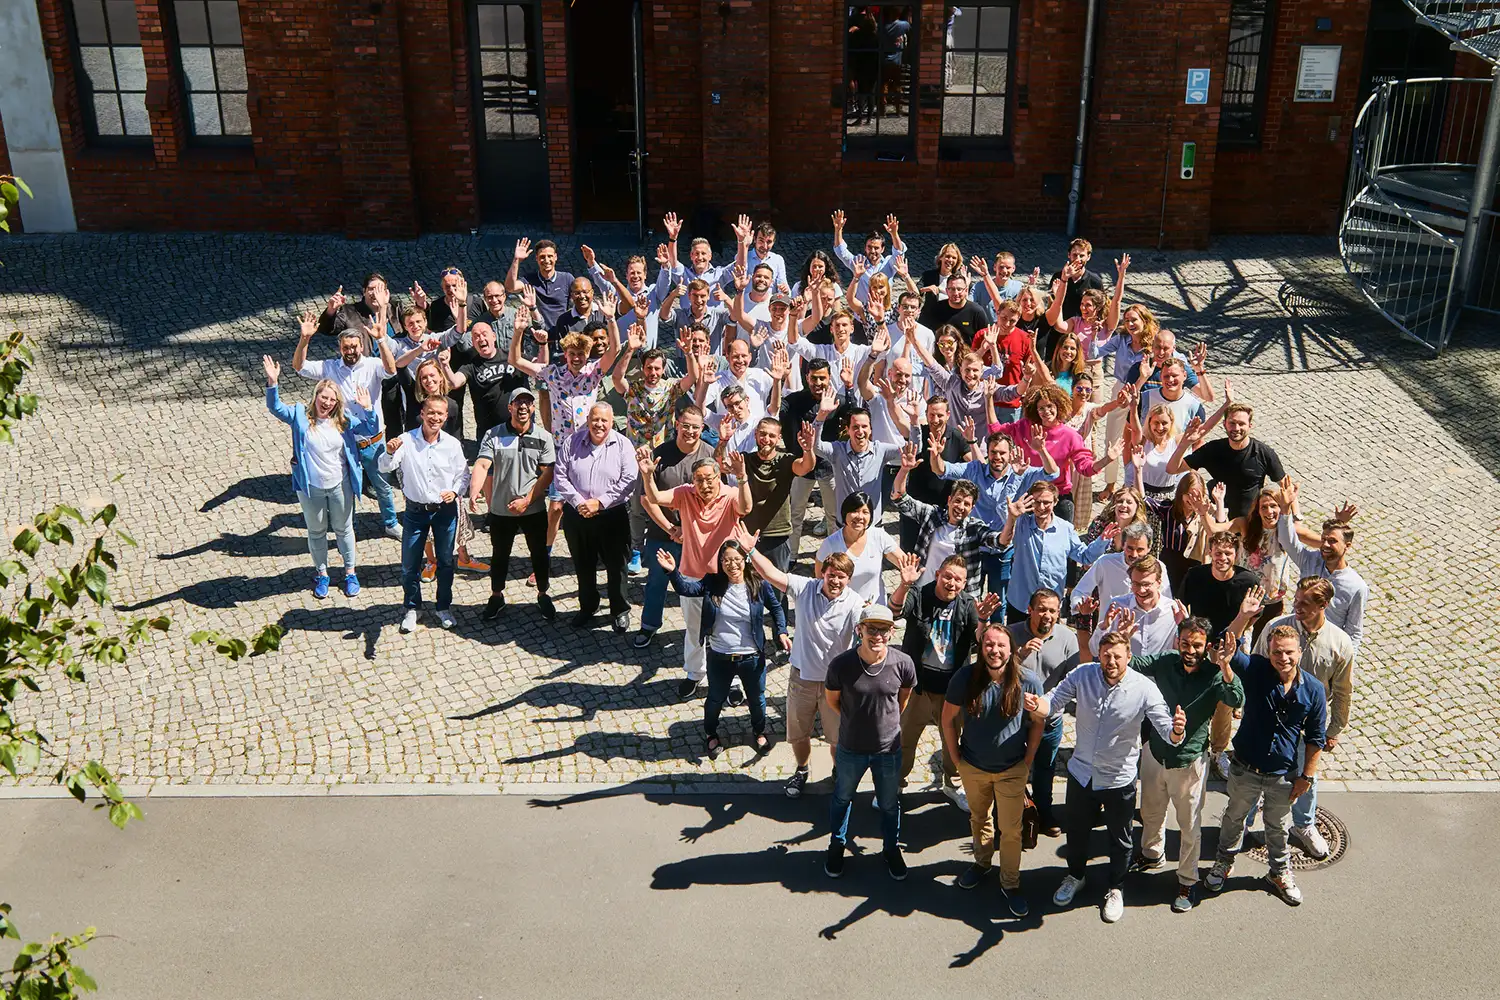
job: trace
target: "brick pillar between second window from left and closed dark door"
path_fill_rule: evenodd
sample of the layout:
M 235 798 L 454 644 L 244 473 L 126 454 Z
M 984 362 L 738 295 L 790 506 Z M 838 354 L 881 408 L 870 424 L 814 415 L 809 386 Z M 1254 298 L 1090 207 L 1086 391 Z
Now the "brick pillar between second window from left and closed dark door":
M 339 109 L 344 232 L 417 235 L 417 196 L 402 82 L 400 4 L 338 0 L 339 51 L 333 97 Z

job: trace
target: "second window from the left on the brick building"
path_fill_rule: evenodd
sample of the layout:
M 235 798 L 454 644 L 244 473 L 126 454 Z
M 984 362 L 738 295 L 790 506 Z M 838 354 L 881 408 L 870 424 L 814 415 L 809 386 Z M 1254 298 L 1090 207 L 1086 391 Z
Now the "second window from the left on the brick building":
M 176 0 L 172 15 L 194 139 L 210 144 L 249 141 L 249 78 L 240 4 L 236 0 Z

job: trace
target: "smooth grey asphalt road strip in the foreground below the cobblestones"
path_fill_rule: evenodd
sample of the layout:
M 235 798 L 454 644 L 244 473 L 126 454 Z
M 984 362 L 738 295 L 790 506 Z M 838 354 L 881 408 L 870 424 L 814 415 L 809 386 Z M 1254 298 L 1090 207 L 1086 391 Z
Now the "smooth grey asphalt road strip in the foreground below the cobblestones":
M 878 852 L 862 798 L 855 834 Z M 828 880 L 824 798 L 171 801 L 124 834 L 8 802 L 0 886 L 24 931 L 114 936 L 86 967 L 116 1000 L 1492 997 L 1500 796 L 1324 805 L 1352 847 L 1302 877 L 1302 907 L 1245 862 L 1185 916 L 1172 874 L 1131 882 L 1113 927 L 1092 883 L 1088 906 L 1028 921 L 948 885 L 966 825 L 940 802 L 906 817 L 908 882 L 878 855 Z M 1060 877 L 1056 844 L 1026 855 L 1034 900 Z

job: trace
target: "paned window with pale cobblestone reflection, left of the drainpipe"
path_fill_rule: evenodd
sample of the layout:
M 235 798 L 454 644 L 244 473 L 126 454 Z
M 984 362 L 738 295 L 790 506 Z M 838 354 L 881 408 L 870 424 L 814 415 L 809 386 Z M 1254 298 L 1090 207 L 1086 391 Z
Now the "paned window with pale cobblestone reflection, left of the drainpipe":
M 1011 3 L 948 7 L 939 144 L 945 159 L 1008 145 L 1014 25 Z

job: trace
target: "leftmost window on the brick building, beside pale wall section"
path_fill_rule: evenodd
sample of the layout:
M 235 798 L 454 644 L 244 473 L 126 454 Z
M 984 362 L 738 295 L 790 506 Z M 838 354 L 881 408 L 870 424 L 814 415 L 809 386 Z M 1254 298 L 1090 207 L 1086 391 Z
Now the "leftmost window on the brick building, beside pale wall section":
M 72 0 L 78 55 L 78 97 L 88 138 L 99 142 L 150 142 L 146 112 L 146 57 L 135 0 Z

